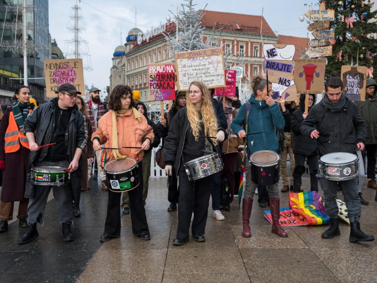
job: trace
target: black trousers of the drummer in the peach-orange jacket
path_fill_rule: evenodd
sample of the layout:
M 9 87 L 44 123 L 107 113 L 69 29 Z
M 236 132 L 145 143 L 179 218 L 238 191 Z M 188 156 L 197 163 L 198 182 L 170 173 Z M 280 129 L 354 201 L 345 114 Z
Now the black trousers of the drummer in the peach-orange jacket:
M 139 162 L 138 165 L 139 185 L 135 189 L 128 191 L 128 196 L 130 198 L 132 233 L 135 235 L 143 231 L 149 231 L 143 205 L 143 166 L 141 165 L 141 162 Z M 111 188 L 109 184 L 107 184 L 107 188 Z M 112 192 L 109 189 L 105 233 L 112 237 L 120 237 L 121 195 L 121 193 Z

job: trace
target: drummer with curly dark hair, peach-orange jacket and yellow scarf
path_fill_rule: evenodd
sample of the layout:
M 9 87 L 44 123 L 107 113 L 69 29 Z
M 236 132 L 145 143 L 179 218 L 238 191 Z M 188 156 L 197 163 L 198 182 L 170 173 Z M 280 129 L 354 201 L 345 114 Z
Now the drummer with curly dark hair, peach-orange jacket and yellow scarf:
M 92 135 L 93 149 L 100 151 L 101 145 L 105 144 L 101 163 L 110 160 L 121 160 L 127 157 L 138 162 L 139 185 L 128 191 L 131 210 L 132 233 L 141 240 L 150 240 L 147 217 L 143 205 L 143 156 L 144 150 L 149 149 L 154 134 L 147 119 L 135 108 L 135 100 L 132 97 L 132 90 L 129 86 L 117 85 L 110 95 L 109 109 L 98 121 L 98 128 Z M 122 148 L 132 146 L 140 148 Z M 122 149 L 115 149 L 122 148 Z M 103 165 L 104 167 L 104 165 Z M 108 186 L 112 184 L 107 184 Z M 112 188 L 111 186 L 109 188 Z M 101 241 L 109 241 L 112 238 L 120 237 L 121 222 L 121 193 L 113 192 L 110 189 L 109 200 L 107 201 L 107 215 L 104 233 Z

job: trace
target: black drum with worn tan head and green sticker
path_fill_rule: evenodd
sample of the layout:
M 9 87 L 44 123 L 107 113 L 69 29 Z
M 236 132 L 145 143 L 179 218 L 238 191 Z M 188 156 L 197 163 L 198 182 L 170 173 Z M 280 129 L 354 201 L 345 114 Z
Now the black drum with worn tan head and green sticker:
M 120 160 L 111 160 L 103 168 L 109 190 L 112 192 L 127 192 L 139 185 L 138 163 L 127 157 Z

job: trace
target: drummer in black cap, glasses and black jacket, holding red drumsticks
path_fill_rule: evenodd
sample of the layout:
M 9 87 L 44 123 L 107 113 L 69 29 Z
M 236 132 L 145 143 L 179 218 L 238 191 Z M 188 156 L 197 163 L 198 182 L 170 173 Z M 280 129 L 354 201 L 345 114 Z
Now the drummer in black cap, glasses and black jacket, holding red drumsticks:
M 63 83 L 59 86 L 58 97 L 51 102 L 38 106 L 25 120 L 24 129 L 29 141 L 29 172 L 26 179 L 25 198 L 30 198 L 28 205 L 28 228 L 18 239 L 19 244 L 29 243 L 39 236 L 37 223 L 43 225 L 43 214 L 49 192 L 54 192 L 58 207 L 58 217 L 63 229 L 63 240 L 73 241 L 71 224 L 72 188 L 81 186 L 83 152 L 88 132 L 85 118 L 78 110 L 76 99 L 81 94 L 75 86 Z M 39 146 L 55 145 L 39 148 Z M 38 166 L 58 166 L 68 168 L 70 184 L 41 186 L 31 183 L 31 170 Z M 72 186 L 72 188 L 71 188 Z

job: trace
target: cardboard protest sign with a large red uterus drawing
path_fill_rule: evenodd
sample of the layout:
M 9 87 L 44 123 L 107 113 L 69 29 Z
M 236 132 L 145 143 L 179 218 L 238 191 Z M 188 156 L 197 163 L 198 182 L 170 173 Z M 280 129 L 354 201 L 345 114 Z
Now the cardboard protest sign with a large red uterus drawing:
M 326 59 L 296 59 L 294 68 L 297 93 L 322 94 Z

